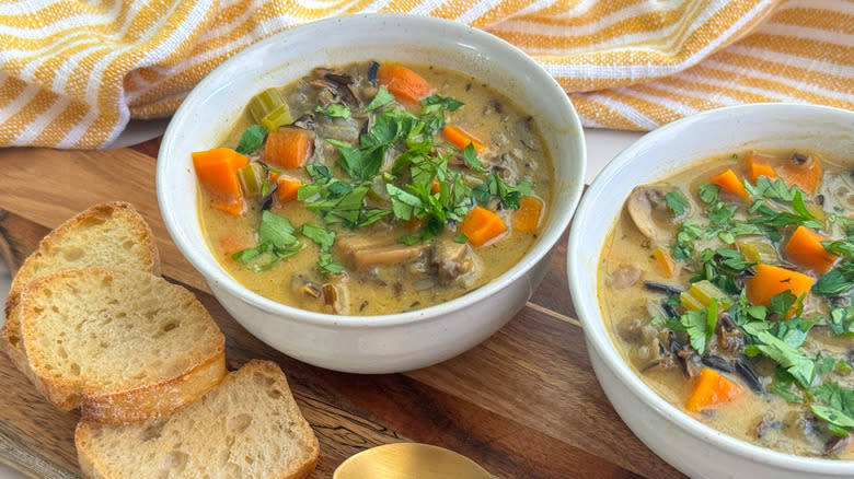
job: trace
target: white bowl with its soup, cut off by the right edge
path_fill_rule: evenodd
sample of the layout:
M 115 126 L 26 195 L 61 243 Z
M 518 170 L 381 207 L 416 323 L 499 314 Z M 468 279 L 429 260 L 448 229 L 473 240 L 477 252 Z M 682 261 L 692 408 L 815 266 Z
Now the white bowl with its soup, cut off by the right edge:
M 690 117 L 621 153 L 582 201 L 568 266 L 597 376 L 692 477 L 854 470 L 852 117 Z

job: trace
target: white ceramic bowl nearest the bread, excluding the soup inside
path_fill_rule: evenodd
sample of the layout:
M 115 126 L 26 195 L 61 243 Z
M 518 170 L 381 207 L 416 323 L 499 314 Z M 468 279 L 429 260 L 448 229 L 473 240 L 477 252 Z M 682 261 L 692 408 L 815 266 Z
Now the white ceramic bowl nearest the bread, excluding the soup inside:
M 493 282 L 437 306 L 355 317 L 266 300 L 236 283 L 206 247 L 196 214 L 191 152 L 217 145 L 250 98 L 318 66 L 369 59 L 432 63 L 489 83 L 534 117 L 555 164 L 552 214 L 524 258 Z M 509 320 L 542 280 L 547 256 L 578 202 L 585 147 L 566 93 L 530 57 L 461 24 L 422 16 L 342 16 L 295 27 L 223 62 L 187 96 L 160 147 L 157 188 L 172 238 L 210 290 L 250 332 L 290 357 L 331 370 L 391 373 L 427 366 L 483 341 Z

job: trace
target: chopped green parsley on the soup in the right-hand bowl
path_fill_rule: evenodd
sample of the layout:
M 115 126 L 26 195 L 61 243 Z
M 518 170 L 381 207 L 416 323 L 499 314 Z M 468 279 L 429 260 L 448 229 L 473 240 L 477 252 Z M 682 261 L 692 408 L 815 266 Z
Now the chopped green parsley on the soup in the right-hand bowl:
M 765 389 L 788 402 L 805 404 L 831 432 L 850 434 L 854 431 L 854 389 L 847 387 L 847 378 L 836 382 L 852 374 L 850 359 L 834 358 L 826 351 L 816 353 L 808 338 L 817 325 L 828 331 L 824 334 L 854 336 L 854 220 L 842 215 L 845 211 L 841 208 L 830 213 L 818 211 L 815 205 L 808 206 L 807 194 L 778 178 L 761 176 L 754 185 L 745 184 L 752 197 L 749 205 L 725 201 L 720 187 L 711 183 L 697 186 L 695 198 L 704 211 L 676 224 L 671 245 L 673 258 L 693 270 L 692 287 L 681 296 L 662 300 L 662 307 L 670 307 L 671 317 L 654 315 L 651 324 L 667 327 L 678 343 L 690 344 L 699 355 L 726 354 L 720 349 L 725 348 L 724 342 L 716 342 L 728 339 L 717 337 L 723 331 L 718 313 L 726 308 L 731 323 L 725 327 L 731 328 L 734 323 L 739 329 L 738 349 L 731 352 L 762 358 L 775 365 L 771 377 L 765 378 Z M 692 201 L 679 190 L 671 189 L 665 200 L 676 219 L 690 212 Z M 754 261 L 794 261 L 784 250 L 784 238 L 799 225 L 845 233 L 843 238 L 822 242 L 828 253 L 840 257 L 832 269 L 818 277 L 810 291 L 826 296 L 823 316 L 811 306 L 805 307 L 808 293 L 798 297 L 792 290 L 784 290 L 763 305 L 747 300 L 746 284 L 754 273 Z M 760 240 L 737 242 L 738 236 Z M 738 248 L 727 247 L 732 244 Z M 719 295 L 712 291 L 715 289 Z M 812 297 L 809 304 L 815 301 Z M 801 317 L 805 309 L 809 314 Z

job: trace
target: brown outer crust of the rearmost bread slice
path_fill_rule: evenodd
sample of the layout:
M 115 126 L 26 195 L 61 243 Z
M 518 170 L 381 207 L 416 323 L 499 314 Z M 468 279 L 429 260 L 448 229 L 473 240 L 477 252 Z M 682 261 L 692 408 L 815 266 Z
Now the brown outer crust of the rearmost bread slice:
M 38 247 L 21 265 L 9 290 L 5 306 L 3 308 L 5 323 L 0 328 L 0 351 L 4 352 L 12 363 L 26 375 L 31 381 L 34 379 L 33 372 L 30 370 L 26 359 L 26 351 L 21 342 L 21 318 L 19 317 L 21 292 L 26 284 L 38 278 L 39 265 L 48 261 L 54 255 L 54 249 L 60 246 L 65 241 L 72 238 L 79 231 L 85 229 L 93 221 L 106 221 L 115 218 L 122 221 L 129 234 L 142 244 L 141 255 L 138 258 L 143 265 L 143 271 L 160 276 L 160 254 L 153 241 L 151 227 L 132 205 L 125 201 L 113 201 L 95 205 L 57 226 L 38 243 Z M 111 265 L 91 265 L 91 266 L 111 266 Z M 114 265 L 119 266 L 119 265 Z M 71 269 L 71 268 L 69 268 Z M 59 269 L 57 271 L 60 271 Z M 51 271 L 56 272 L 56 271 Z

